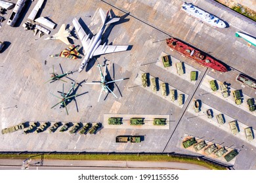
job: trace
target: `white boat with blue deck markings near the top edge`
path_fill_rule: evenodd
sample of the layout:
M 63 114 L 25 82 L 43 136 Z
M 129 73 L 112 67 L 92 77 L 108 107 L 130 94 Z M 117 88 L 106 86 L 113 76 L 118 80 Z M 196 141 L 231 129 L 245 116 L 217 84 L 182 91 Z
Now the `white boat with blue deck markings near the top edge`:
M 205 12 L 204 10 L 195 7 L 192 3 L 184 3 L 182 5 L 182 10 L 187 12 L 188 14 L 202 20 L 203 22 L 212 25 L 214 27 L 224 28 L 226 27 L 226 24 L 223 22 L 223 20 L 220 20 L 213 14 L 210 14 L 209 12 Z

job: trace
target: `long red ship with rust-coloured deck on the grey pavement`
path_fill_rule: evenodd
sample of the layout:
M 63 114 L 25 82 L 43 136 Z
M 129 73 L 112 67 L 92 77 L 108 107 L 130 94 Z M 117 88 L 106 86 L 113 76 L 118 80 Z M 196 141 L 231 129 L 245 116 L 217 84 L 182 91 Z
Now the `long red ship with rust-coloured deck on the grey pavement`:
M 221 72 L 228 71 L 228 69 L 226 69 L 226 67 L 222 63 L 219 63 L 219 61 L 217 61 L 216 59 L 203 54 L 199 50 L 196 50 L 196 48 L 192 48 L 191 46 L 188 46 L 187 44 L 178 41 L 177 39 L 166 39 L 166 43 L 173 50 L 176 50 L 187 58 L 190 58 L 193 61 L 196 61 L 206 67 L 210 67 L 212 69 L 215 69 L 216 71 Z

